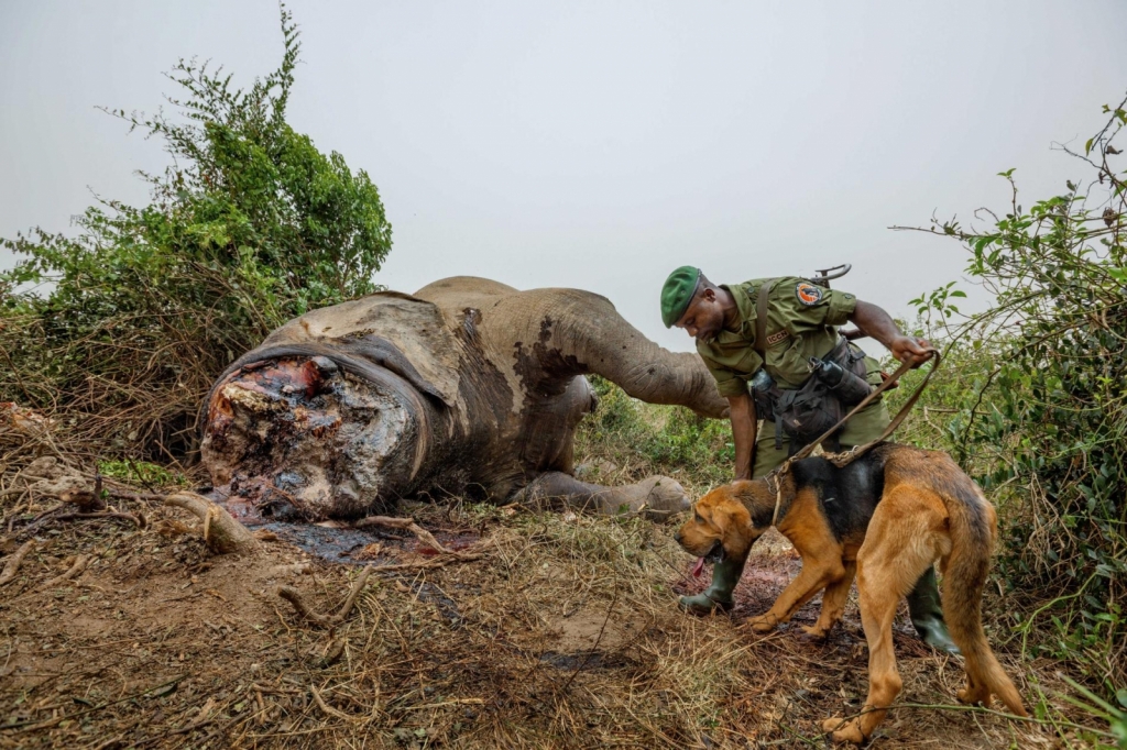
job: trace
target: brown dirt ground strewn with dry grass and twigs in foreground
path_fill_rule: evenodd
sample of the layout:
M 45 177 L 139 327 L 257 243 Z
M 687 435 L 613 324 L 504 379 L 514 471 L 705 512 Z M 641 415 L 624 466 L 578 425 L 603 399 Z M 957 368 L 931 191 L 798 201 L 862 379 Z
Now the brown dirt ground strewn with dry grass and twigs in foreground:
M 672 527 L 637 518 L 405 505 L 459 555 L 405 530 L 277 525 L 247 554 L 214 555 L 185 511 L 117 509 L 148 527 L 43 527 L 0 588 L 2 748 L 828 747 L 818 722 L 858 711 L 867 690 L 855 602 L 825 643 L 798 630 L 817 601 L 766 636 L 742 626 L 797 570 L 778 536 L 749 562 L 735 613 L 698 618 L 675 597 L 708 573 L 690 579 Z M 3 509 L 9 560 L 16 510 Z M 80 555 L 80 574 L 46 584 Z M 277 593 L 294 587 L 332 613 L 364 565 L 373 574 L 336 626 Z M 1063 687 L 1055 664 L 1019 663 L 991 637 L 1024 695 L 1031 681 Z M 896 652 L 907 705 L 871 747 L 1056 747 L 1041 724 L 956 707 L 958 660 L 903 616 Z

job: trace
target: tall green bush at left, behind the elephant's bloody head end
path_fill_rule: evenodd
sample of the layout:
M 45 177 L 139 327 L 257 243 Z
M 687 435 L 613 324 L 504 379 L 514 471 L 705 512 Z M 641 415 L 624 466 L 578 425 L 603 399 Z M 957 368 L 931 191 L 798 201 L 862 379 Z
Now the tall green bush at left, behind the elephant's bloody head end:
M 284 8 L 282 34 L 281 66 L 247 90 L 181 60 L 179 117 L 110 111 L 172 157 L 141 175 L 150 205 L 100 200 L 77 236 L 3 240 L 24 260 L 0 276 L 0 401 L 62 410 L 99 453 L 181 457 L 229 361 L 310 307 L 378 288 L 380 195 L 285 122 L 300 44 Z

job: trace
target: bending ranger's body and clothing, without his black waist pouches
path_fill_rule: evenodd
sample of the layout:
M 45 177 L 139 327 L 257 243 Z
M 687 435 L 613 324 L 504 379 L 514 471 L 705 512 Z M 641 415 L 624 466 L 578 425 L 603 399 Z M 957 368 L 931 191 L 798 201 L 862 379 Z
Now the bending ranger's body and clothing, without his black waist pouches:
M 758 295 L 764 284 L 770 285 L 765 298 L 765 341 L 756 346 Z M 790 450 L 789 438 L 777 431 L 773 421 L 764 420 L 756 434 L 755 401 L 748 392 L 748 381 L 762 377 L 761 369 L 782 391 L 801 387 L 811 376 L 810 358 L 822 358 L 834 350 L 842 336 L 837 327 L 846 322 L 857 327 L 857 334 L 876 339 L 900 361 L 919 366 L 926 359 L 926 341 L 902 333 L 877 305 L 797 277 L 715 285 L 699 268 L 682 266 L 662 288 L 662 321 L 666 328 L 676 325 L 696 339 L 698 354 L 716 378 L 720 395 L 728 399 L 737 480 L 763 476 L 795 453 Z M 864 361 L 869 384 L 879 385 L 879 364 L 871 357 Z M 880 437 L 889 421 L 887 408 L 877 399 L 845 422 L 837 440 L 842 448 L 864 445 Z M 795 446 L 796 450 L 801 447 Z M 682 597 L 681 606 L 693 613 L 730 608 L 731 593 L 742 573 L 742 563 L 726 561 L 713 565 L 712 584 L 703 593 Z M 907 599 L 912 624 L 923 640 L 937 649 L 957 653 L 943 623 L 934 570 L 929 569 Z

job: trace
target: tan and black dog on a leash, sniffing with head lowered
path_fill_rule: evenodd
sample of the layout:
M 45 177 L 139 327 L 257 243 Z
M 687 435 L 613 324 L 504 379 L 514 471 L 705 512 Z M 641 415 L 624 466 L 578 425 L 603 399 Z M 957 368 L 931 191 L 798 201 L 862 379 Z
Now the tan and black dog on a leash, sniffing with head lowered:
M 962 703 L 988 705 L 991 694 L 1019 716 L 1021 696 L 999 664 L 982 625 L 982 592 L 997 517 L 978 485 L 944 453 L 881 443 L 837 467 L 825 458 L 798 461 L 774 477 L 719 486 L 693 507 L 674 535 L 690 554 L 742 566 L 752 544 L 777 528 L 802 557 L 802 570 L 770 611 L 748 620 L 773 630 L 818 591 L 822 614 L 805 628 L 825 636 L 841 619 L 857 578 L 869 643 L 869 696 L 860 716 L 822 723 L 835 742 L 860 744 L 872 734 L 903 682 L 893 651 L 900 597 L 937 560 L 943 573 L 943 615 L 966 658 Z M 777 515 L 778 514 L 778 515 Z

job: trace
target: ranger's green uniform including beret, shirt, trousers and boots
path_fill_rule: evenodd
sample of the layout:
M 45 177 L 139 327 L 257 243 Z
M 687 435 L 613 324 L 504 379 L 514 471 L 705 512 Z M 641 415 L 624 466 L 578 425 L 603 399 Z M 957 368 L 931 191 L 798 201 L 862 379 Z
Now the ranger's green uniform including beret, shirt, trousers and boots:
M 662 291 L 662 319 L 666 328 L 684 314 L 695 293 L 700 270 L 682 266 L 673 271 Z M 721 285 L 735 300 L 739 311 L 739 329 L 721 330 L 713 340 L 696 343 L 696 351 L 716 378 L 722 396 L 743 395 L 747 382 L 765 368 L 783 390 L 801 387 L 810 377 L 810 357 L 824 357 L 837 345 L 838 325 L 849 321 L 857 310 L 857 297 L 837 289 L 827 289 L 801 278 L 787 276 L 774 280 L 767 294 L 766 341 L 756 351 L 756 307 L 760 287 L 770 279 L 752 279 L 731 286 Z M 880 384 L 880 365 L 866 357 L 870 385 Z M 880 437 L 888 427 L 888 410 L 881 399 L 853 414 L 842 429 L 842 447 L 864 445 Z M 789 438 L 783 434 L 782 447 L 775 447 L 774 422 L 764 420 L 755 436 L 755 465 L 752 476 L 770 473 L 787 459 Z M 743 573 L 744 561 L 724 561 L 713 565 L 712 584 L 694 597 L 682 597 L 681 606 L 690 611 L 711 611 L 733 606 L 733 590 Z M 935 572 L 928 569 L 908 593 L 912 624 L 923 639 L 935 648 L 958 653 L 943 623 Z

